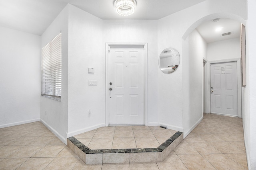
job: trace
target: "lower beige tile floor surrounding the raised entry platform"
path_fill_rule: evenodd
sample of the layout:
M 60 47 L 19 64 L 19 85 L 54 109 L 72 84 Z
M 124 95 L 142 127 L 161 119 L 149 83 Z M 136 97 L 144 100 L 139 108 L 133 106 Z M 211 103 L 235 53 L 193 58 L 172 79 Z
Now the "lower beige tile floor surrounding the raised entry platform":
M 40 122 L 2 128 L 0 136 L 0 170 L 247 169 L 242 119 L 220 115 L 204 115 L 182 143 L 163 162 L 156 163 L 84 164 Z

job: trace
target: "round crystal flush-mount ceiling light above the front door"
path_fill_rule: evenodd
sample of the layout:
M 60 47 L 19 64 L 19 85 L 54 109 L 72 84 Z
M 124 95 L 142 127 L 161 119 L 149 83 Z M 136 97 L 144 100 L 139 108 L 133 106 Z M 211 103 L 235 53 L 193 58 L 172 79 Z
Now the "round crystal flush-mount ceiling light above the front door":
M 114 2 L 116 12 L 121 16 L 132 15 L 136 5 L 136 0 L 115 0 Z

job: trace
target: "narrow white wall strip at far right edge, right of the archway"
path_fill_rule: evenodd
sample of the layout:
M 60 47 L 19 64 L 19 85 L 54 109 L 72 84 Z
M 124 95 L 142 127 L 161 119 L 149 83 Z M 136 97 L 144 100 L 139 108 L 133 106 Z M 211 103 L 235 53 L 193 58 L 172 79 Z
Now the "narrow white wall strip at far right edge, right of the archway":
M 244 87 L 244 141 L 248 169 L 256 169 L 256 1 L 248 0 L 246 23 L 246 82 Z

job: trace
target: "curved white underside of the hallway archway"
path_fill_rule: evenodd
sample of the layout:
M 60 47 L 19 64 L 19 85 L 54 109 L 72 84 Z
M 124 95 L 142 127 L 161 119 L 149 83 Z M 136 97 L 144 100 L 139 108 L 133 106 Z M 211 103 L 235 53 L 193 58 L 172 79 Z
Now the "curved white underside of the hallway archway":
M 240 16 L 238 16 L 236 14 L 231 14 L 231 13 L 214 13 L 214 14 L 210 14 L 208 16 L 205 16 L 205 17 L 201 18 L 200 20 L 197 20 L 192 25 L 190 25 L 190 27 L 183 34 L 182 39 L 186 40 L 188 35 L 190 35 L 190 33 L 194 29 L 196 29 L 196 27 L 198 27 L 199 25 L 201 25 L 205 21 L 214 20 L 215 18 L 229 18 L 229 19 L 233 19 L 233 20 L 239 21 L 242 24 L 246 25 L 246 20 L 244 20 L 242 17 L 240 17 Z

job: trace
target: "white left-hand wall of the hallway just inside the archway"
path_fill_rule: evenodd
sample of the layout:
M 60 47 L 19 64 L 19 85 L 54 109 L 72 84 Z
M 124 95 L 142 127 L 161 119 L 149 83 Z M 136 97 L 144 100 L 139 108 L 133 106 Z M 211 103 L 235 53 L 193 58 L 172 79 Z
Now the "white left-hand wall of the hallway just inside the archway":
M 187 136 L 203 118 L 203 58 L 207 56 L 207 43 L 194 29 L 182 46 L 183 128 Z M 186 62 L 185 62 L 186 61 Z

